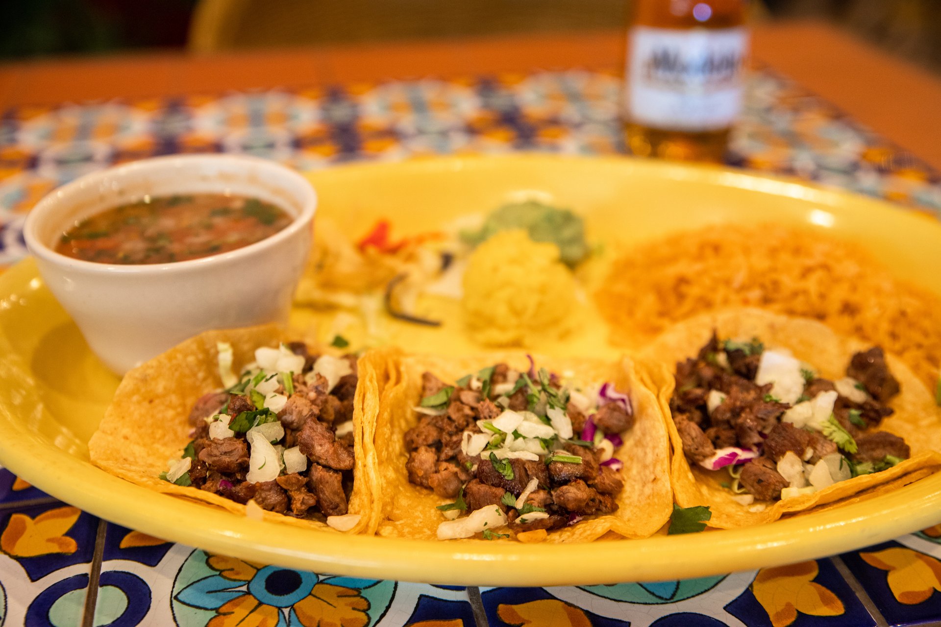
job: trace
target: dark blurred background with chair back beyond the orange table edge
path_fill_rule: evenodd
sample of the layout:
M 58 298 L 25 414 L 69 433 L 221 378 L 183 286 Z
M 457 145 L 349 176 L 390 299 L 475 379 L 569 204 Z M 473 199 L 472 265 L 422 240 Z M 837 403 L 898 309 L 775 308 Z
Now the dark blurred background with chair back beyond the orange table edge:
M 664 0 L 666 1 L 666 0 Z M 627 24 L 630 0 L 8 0 L 0 58 L 197 52 L 572 31 Z M 941 71 L 941 0 L 762 0 L 765 19 L 826 19 Z

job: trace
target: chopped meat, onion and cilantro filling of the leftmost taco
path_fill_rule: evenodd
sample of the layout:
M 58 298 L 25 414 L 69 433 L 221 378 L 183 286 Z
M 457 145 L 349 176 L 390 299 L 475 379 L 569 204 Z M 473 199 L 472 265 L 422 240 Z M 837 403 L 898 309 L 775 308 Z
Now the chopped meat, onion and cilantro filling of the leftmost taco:
M 161 478 L 287 516 L 326 516 L 341 530 L 355 525 L 345 514 L 356 358 L 311 355 L 303 342 L 291 342 L 257 349 L 236 376 L 231 346 L 219 342 L 218 353 L 229 387 L 196 401 L 193 440 Z

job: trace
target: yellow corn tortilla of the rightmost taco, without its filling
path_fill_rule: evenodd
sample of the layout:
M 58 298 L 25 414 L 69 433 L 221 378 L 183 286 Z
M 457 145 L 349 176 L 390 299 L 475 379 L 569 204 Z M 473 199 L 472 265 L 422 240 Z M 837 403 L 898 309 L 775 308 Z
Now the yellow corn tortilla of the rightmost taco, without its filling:
M 769 348 L 783 347 L 815 368 L 823 378 L 835 380 L 845 376 L 853 353 L 864 351 L 871 344 L 858 339 L 840 337 L 821 322 L 790 318 L 755 308 L 735 308 L 710 312 L 679 322 L 646 346 L 642 358 L 651 382 L 659 388 L 658 398 L 664 415 L 670 415 L 670 398 L 675 387 L 676 364 L 693 357 L 709 341 L 713 329 L 719 337 L 758 337 Z M 889 405 L 895 414 L 879 427 L 901 436 L 912 449 L 912 457 L 881 473 L 863 475 L 840 481 L 813 494 L 802 494 L 774 502 L 757 501 L 743 506 L 733 500 L 731 491 L 720 483 L 728 481 L 725 469 L 709 471 L 692 466 L 682 452 L 682 441 L 672 419 L 667 429 L 673 447 L 671 479 L 674 497 L 680 507 L 709 506 L 709 525 L 735 528 L 760 525 L 789 513 L 803 512 L 830 503 L 843 502 L 853 495 L 877 489 L 880 493 L 904 481 L 910 473 L 941 464 L 941 410 L 931 394 L 910 368 L 894 355 L 886 355 L 888 367 L 899 380 L 900 394 Z M 920 473 L 919 473 L 920 475 Z

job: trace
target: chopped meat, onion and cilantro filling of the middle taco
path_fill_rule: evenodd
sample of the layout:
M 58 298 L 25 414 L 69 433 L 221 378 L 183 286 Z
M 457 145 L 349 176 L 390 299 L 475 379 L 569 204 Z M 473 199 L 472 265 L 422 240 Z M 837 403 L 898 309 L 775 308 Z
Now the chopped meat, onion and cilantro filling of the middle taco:
M 439 540 L 507 537 L 612 513 L 624 486 L 614 457 L 634 423 L 626 394 L 562 384 L 546 368 L 497 364 L 446 384 L 422 375 L 418 424 L 405 433 L 408 480 L 454 498 Z

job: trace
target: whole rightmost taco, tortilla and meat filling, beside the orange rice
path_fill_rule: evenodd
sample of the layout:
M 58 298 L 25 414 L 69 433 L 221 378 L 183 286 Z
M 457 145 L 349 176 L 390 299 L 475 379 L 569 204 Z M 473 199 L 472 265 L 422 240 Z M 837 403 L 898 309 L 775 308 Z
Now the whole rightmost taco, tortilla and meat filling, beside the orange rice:
M 941 412 L 879 346 L 759 309 L 710 313 L 645 349 L 680 507 L 767 523 L 941 469 Z

